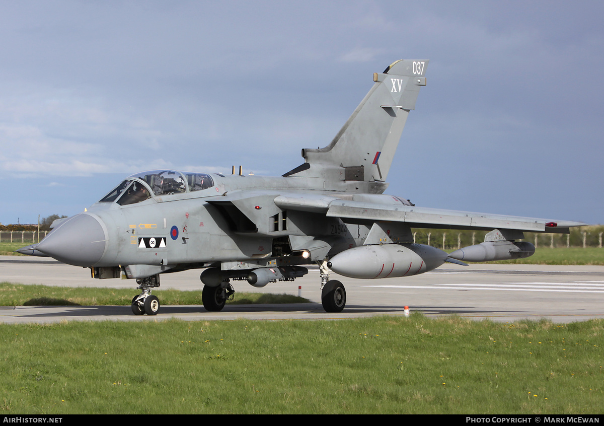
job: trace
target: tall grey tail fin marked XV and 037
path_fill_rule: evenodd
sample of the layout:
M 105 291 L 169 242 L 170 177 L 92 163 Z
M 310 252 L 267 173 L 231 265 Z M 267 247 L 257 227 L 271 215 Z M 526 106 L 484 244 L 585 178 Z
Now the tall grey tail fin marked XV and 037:
M 384 182 L 407 115 L 415 109 L 420 87 L 426 85 L 426 68 L 428 60 L 397 60 L 384 73 L 374 73 L 373 87 L 332 143 L 303 149 L 307 164 L 284 176 L 317 176 L 321 169 L 343 167 L 344 173 L 338 172 L 342 180 Z

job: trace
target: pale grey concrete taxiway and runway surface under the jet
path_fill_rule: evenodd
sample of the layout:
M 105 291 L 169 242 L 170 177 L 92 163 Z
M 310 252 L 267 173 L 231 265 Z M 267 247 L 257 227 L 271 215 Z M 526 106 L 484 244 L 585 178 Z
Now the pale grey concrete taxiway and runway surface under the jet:
M 201 269 L 161 276 L 161 289 L 201 290 Z M 604 266 L 471 265 L 446 263 L 419 276 L 381 280 L 355 280 L 332 274 L 344 283 L 347 305 L 330 314 L 321 306 L 318 268 L 295 282 L 269 283 L 254 288 L 233 282 L 236 291 L 298 294 L 311 303 L 295 305 L 226 305 L 222 312 L 203 306 L 161 306 L 155 317 L 132 314 L 130 306 L 16 306 L 0 307 L 1 323 L 53 323 L 59 321 L 159 321 L 339 319 L 373 315 L 403 315 L 404 307 L 428 317 L 456 314 L 494 321 L 548 318 L 570 323 L 604 317 Z M 98 280 L 89 269 L 42 257 L 0 256 L 0 281 L 56 286 L 132 288 L 135 280 Z M 160 300 L 161 302 L 161 300 Z

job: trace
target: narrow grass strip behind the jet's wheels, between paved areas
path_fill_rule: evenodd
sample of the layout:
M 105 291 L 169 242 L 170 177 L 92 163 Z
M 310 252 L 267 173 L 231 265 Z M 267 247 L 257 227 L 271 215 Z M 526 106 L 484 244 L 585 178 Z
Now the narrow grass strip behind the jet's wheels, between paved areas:
M 0 283 L 0 306 L 126 306 L 137 294 L 135 288 L 56 287 Z M 162 305 L 203 305 L 201 291 L 154 290 Z M 235 292 L 233 305 L 265 303 L 307 303 L 309 300 L 291 294 Z

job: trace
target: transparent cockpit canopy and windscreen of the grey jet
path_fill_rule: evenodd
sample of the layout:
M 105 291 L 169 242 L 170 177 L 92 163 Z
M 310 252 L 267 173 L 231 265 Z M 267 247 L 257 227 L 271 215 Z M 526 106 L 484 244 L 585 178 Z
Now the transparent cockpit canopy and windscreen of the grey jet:
M 146 185 L 134 180 L 141 179 Z M 147 187 L 147 185 L 149 187 Z M 114 202 L 128 205 L 156 196 L 193 192 L 214 186 L 214 181 L 205 173 L 176 172 L 176 170 L 151 170 L 128 176 L 99 202 Z

